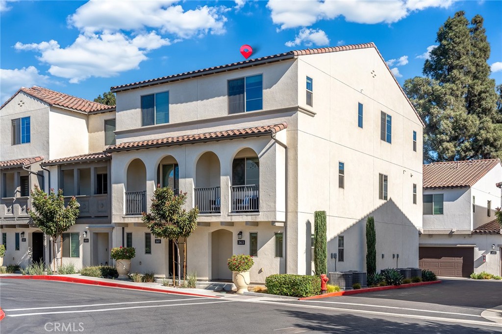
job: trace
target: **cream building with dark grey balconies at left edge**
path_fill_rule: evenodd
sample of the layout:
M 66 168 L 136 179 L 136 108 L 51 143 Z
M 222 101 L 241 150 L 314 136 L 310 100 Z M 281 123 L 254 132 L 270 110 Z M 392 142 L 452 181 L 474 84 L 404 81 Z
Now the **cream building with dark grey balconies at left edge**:
M 21 88 L 0 107 L 0 233 L 7 245 L 5 265 L 50 263 L 54 258 L 49 238 L 31 224 L 27 212 L 35 185 L 45 191 L 63 188 L 65 196 L 75 195 L 80 203 L 77 223 L 63 234 L 63 263 L 81 267 L 109 261 L 109 249 L 101 250 L 96 241 L 103 247 L 108 247 L 108 240 L 111 244 L 110 157 L 103 150 L 114 144 L 114 118 L 114 106 L 37 86 Z M 98 234 L 92 242 L 84 242 L 84 235 L 103 231 L 109 233 L 108 239 Z M 56 248 L 59 251 L 59 242 Z

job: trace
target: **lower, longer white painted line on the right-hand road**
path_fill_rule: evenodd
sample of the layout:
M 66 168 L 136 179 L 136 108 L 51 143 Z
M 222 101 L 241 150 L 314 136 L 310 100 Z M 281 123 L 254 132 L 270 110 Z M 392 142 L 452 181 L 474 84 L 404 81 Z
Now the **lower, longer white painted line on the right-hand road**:
M 403 317 L 403 318 L 414 318 L 414 319 L 422 319 L 422 320 L 434 320 L 434 321 L 446 321 L 446 322 L 456 322 L 456 323 L 468 323 L 468 324 L 476 324 L 483 325 L 489 327 L 500 327 L 502 325 L 494 322 L 486 322 L 486 321 L 476 321 L 476 320 L 465 320 L 465 319 L 455 319 L 455 318 L 443 318 L 440 316 L 428 316 L 428 315 L 416 315 L 416 314 L 402 314 L 402 313 L 388 313 L 388 312 L 379 312 L 379 311 L 368 311 L 362 309 L 351 309 L 351 308 L 341 308 L 341 307 L 328 307 L 328 306 L 318 306 L 318 305 L 306 305 L 306 304 L 291 304 L 289 302 L 277 302 L 277 301 L 268 301 L 268 300 L 257 300 L 257 299 L 248 299 L 242 300 L 243 302 L 255 302 L 255 303 L 266 303 L 266 304 L 275 304 L 275 305 L 285 305 L 291 307 L 300 307 L 300 308 L 317 308 L 317 309 L 328 309 L 328 310 L 337 310 L 344 312 L 353 312 L 353 313 L 365 313 L 365 314 L 378 314 L 383 316 L 394 316 L 394 317 Z

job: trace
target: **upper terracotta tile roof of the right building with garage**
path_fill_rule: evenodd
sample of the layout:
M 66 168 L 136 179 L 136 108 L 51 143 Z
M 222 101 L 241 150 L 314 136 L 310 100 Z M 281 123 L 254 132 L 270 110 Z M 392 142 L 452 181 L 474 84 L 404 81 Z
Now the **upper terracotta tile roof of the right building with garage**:
M 500 159 L 435 162 L 423 166 L 424 188 L 471 187 Z

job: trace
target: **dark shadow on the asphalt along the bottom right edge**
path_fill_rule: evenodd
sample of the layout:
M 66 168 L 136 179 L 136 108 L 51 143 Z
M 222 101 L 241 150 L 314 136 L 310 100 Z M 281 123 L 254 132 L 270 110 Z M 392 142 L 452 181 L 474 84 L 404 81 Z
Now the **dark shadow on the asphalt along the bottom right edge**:
M 371 331 L 374 333 L 408 333 L 422 334 L 424 332 L 435 332 L 442 334 L 457 333 L 499 333 L 498 329 L 476 328 L 473 326 L 463 326 L 453 323 L 424 322 L 410 323 L 396 318 L 390 321 L 381 318 L 371 318 L 368 315 L 356 316 L 350 313 L 344 314 L 324 314 L 316 312 L 306 312 L 298 310 L 280 310 L 285 316 L 290 317 L 288 323 L 297 328 L 316 331 L 319 333 L 353 334 Z M 295 322 L 297 320 L 298 322 Z

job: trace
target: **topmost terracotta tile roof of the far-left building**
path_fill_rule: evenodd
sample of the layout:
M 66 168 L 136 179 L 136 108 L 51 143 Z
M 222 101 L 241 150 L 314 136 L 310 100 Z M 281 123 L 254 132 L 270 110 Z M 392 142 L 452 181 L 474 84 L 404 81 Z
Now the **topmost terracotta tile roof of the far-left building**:
M 4 108 L 16 95 L 20 92 L 33 96 L 40 101 L 43 101 L 51 106 L 67 108 L 84 113 L 114 111 L 115 106 L 107 106 L 105 104 L 77 98 L 68 94 L 52 91 L 47 88 L 33 86 L 32 88 L 22 87 L 9 100 L 7 100 L 0 109 Z

